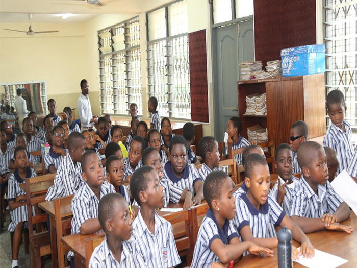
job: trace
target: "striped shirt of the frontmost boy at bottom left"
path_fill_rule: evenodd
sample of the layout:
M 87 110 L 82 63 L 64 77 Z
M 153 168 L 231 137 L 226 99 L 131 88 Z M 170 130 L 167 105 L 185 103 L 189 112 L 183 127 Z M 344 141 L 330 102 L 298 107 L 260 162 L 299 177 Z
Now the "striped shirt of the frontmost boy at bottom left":
M 104 238 L 104 241 L 97 246 L 89 260 L 89 268 L 130 268 L 130 267 L 146 267 L 146 264 L 136 249 L 136 243 L 134 239 L 122 240 L 122 251 L 120 257 L 120 263 L 115 259 L 112 251 L 108 246 L 108 236 Z

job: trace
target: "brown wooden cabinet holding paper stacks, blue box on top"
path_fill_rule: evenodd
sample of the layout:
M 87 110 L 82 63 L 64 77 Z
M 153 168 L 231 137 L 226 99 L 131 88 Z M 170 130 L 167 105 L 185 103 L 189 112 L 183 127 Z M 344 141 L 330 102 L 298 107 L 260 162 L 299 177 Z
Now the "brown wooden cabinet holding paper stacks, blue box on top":
M 266 93 L 267 115 L 245 115 L 245 97 Z M 297 120 L 309 127 L 308 139 L 326 132 L 324 74 L 238 81 L 238 109 L 242 120 L 241 135 L 247 138 L 247 128 L 256 124 L 268 128 L 268 140 L 275 147 L 289 143 L 290 128 Z

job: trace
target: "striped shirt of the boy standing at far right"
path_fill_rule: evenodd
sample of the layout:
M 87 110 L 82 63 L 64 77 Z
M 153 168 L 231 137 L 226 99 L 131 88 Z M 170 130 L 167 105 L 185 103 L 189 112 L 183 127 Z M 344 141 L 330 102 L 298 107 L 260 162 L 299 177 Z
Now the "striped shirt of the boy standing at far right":
M 336 127 L 335 124 L 331 124 L 323 137 L 323 145 L 336 151 L 337 159 L 340 162 L 337 175 L 343 169 L 348 168 L 353 155 L 351 125 L 346 120 L 343 120 L 343 124 L 345 124 L 346 132 Z

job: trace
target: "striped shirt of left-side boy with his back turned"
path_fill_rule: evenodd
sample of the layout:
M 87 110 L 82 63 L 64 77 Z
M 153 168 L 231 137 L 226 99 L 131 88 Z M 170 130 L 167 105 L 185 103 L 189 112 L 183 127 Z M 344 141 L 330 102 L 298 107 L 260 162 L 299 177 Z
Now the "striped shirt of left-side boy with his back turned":
M 57 169 L 54 185 L 47 191 L 46 201 L 70 196 L 83 184 L 81 163 L 74 165 L 70 155 L 67 154 Z

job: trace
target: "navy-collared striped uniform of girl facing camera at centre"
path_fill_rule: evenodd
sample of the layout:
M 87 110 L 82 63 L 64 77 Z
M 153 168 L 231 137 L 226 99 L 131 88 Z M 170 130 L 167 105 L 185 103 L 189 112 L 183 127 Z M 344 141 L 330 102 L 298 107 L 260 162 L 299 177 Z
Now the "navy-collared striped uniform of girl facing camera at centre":
M 202 181 L 202 179 L 199 176 L 194 164 L 188 163 L 186 163 L 181 178 L 177 178 L 177 176 L 172 171 L 171 161 L 168 161 L 164 166 L 162 181 L 166 183 L 169 188 L 174 185 L 180 189 L 189 189 L 192 193 L 192 196 L 194 196 L 194 185 L 196 182 Z

